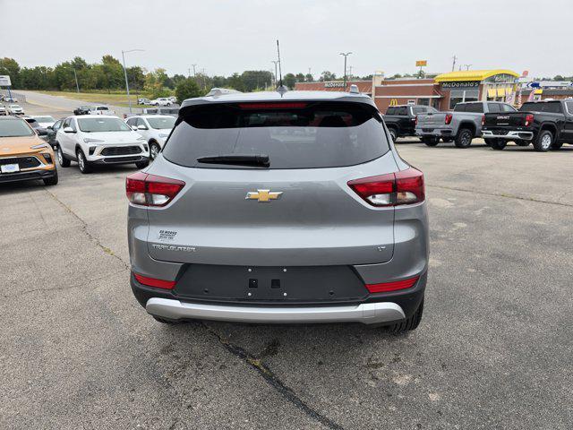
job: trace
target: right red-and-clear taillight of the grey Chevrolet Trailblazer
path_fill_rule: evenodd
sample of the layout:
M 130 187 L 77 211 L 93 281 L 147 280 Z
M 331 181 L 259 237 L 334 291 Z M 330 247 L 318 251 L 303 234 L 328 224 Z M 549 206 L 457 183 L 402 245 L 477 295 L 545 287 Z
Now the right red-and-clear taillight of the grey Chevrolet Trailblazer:
M 415 168 L 355 179 L 348 186 L 372 206 L 414 204 L 425 199 L 423 173 Z

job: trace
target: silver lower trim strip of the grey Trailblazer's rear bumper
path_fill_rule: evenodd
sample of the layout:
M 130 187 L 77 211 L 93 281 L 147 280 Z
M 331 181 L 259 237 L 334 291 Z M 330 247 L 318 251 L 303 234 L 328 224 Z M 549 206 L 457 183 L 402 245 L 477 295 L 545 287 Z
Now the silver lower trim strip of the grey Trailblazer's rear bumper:
M 360 305 L 282 307 L 229 306 L 185 303 L 166 298 L 150 298 L 149 314 L 172 320 L 201 319 L 235 323 L 392 323 L 406 318 L 396 303 Z

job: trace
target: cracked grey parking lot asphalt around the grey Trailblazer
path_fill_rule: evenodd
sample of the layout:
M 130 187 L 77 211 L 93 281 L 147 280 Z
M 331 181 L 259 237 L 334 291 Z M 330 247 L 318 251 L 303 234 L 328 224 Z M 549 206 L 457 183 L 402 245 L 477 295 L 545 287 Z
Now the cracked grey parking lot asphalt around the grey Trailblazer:
M 134 167 L 0 185 L 0 427 L 571 428 L 573 146 L 397 146 L 431 226 L 423 321 L 398 336 L 156 323 L 129 287 Z

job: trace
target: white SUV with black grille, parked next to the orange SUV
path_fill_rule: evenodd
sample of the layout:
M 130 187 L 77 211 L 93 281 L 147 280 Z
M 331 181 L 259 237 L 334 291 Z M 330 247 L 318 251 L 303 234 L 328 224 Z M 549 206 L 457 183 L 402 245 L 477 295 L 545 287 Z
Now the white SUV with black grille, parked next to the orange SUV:
M 60 166 L 78 162 L 81 173 L 93 165 L 131 164 L 145 168 L 150 148 L 145 138 L 135 133 L 117 116 L 69 116 L 56 133 Z

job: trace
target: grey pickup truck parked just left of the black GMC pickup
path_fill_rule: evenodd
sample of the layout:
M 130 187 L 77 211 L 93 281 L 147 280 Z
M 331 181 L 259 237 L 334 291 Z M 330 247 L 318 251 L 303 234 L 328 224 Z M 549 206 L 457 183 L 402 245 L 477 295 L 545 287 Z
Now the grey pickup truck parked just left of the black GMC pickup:
M 418 115 L 415 134 L 428 146 L 436 146 L 441 138 L 444 142 L 454 141 L 458 148 L 467 148 L 482 135 L 482 116 L 490 112 L 516 112 L 516 108 L 500 101 L 458 103 L 453 112 Z

